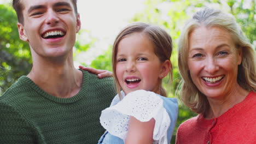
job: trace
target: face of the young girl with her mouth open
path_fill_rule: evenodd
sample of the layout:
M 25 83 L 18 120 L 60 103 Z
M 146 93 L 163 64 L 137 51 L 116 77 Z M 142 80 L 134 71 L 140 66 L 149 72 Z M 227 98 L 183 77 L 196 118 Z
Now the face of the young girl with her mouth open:
M 142 33 L 132 33 L 118 44 L 117 79 L 125 94 L 138 89 L 159 93 L 162 63 L 153 43 Z

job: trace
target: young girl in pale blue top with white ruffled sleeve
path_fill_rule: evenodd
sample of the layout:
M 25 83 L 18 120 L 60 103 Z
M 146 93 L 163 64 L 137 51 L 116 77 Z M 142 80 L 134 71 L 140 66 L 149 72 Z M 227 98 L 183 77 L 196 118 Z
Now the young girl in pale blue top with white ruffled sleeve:
M 102 111 L 107 131 L 99 143 L 170 143 L 178 103 L 161 82 L 172 75 L 171 52 L 171 37 L 160 27 L 136 22 L 119 33 L 112 52 L 118 94 Z

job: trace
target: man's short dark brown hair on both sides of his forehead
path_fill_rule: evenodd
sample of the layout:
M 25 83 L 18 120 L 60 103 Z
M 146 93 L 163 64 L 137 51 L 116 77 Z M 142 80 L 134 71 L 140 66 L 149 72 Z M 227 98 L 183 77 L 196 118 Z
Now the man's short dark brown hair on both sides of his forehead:
M 24 16 L 22 14 L 22 10 L 24 9 L 24 5 L 21 2 L 22 0 L 13 0 L 13 8 L 16 11 L 17 17 L 18 17 L 18 22 L 20 22 L 22 25 L 24 24 Z M 36 1 L 36 0 L 35 0 Z M 75 14 L 77 14 L 77 0 L 72 0 L 72 3 L 74 5 L 74 11 Z

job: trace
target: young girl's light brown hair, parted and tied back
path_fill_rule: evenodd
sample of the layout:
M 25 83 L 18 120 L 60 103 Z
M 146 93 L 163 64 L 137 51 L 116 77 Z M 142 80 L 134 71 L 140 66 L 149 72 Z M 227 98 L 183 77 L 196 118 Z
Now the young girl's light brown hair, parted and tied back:
M 117 64 L 117 52 L 118 52 L 118 44 L 125 37 L 133 34 L 133 33 L 142 33 L 150 41 L 152 41 L 154 45 L 155 55 L 158 56 L 160 62 L 165 62 L 167 59 L 170 60 L 172 54 L 172 39 L 170 35 L 159 26 L 149 25 L 147 23 L 142 22 L 133 22 L 127 27 L 125 27 L 117 36 L 114 41 L 113 50 L 112 50 L 112 65 L 113 65 L 113 73 L 114 79 L 116 83 L 117 92 L 120 97 L 120 84 L 117 79 L 116 64 Z M 172 69 L 169 71 L 169 77 L 172 80 Z M 160 95 L 166 97 L 166 91 L 160 84 L 159 86 Z

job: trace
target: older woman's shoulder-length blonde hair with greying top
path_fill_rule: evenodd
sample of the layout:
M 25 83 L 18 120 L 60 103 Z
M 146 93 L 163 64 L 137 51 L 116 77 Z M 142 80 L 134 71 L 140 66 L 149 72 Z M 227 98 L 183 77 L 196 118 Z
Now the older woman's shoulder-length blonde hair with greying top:
M 196 113 L 205 114 L 210 105 L 204 94 L 193 83 L 188 69 L 189 34 L 198 27 L 220 27 L 230 32 L 237 50 L 242 49 L 242 63 L 238 65 L 237 82 L 247 91 L 256 90 L 255 51 L 236 23 L 234 16 L 220 10 L 205 8 L 197 11 L 185 23 L 178 42 L 178 67 L 182 76 L 179 96 L 183 103 Z

